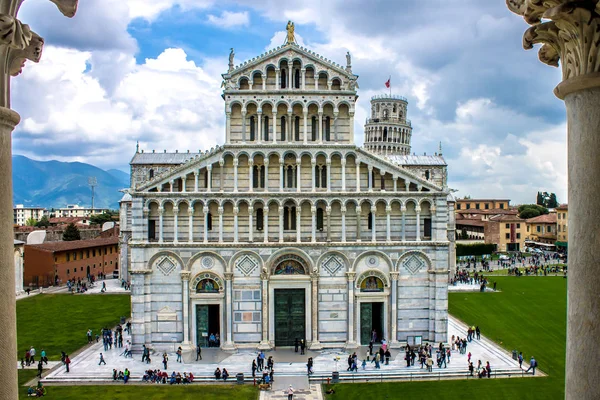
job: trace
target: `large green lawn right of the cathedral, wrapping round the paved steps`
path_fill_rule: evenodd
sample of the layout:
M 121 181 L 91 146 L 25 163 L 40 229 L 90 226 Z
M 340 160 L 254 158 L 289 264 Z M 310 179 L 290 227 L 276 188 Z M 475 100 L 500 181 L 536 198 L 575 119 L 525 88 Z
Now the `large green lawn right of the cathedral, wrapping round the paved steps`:
M 566 280 L 496 277 L 500 293 L 450 293 L 450 313 L 507 350 L 534 355 L 546 378 L 332 385 L 326 399 L 563 399 Z M 493 366 L 492 366 L 493 368 Z M 326 387 L 324 387 L 325 389 Z

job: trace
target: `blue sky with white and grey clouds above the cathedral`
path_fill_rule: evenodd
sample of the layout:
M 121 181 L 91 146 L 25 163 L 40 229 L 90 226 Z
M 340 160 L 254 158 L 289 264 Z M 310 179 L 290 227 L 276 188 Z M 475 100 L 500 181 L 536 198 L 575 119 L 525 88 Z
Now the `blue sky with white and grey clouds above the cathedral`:
M 47 0 L 19 19 L 45 39 L 42 60 L 11 84 L 21 115 L 13 153 L 129 172 L 145 151 L 222 144 L 221 74 L 283 43 L 288 20 L 301 45 L 358 74 L 356 143 L 369 99 L 408 98 L 412 150 L 441 142 L 458 197 L 567 202 L 566 115 L 552 90 L 560 70 L 522 48 L 527 29 L 504 1 L 85 0 L 73 19 Z

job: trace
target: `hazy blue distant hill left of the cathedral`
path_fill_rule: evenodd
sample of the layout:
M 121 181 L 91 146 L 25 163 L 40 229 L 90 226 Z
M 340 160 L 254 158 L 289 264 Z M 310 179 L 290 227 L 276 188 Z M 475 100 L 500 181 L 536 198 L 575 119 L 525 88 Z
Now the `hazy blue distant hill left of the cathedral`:
M 36 161 L 13 156 L 14 204 L 65 207 L 67 204 L 91 206 L 92 194 L 88 178 L 96 177 L 94 207 L 116 209 L 123 197 L 120 189 L 129 187 L 129 174 L 111 169 L 105 171 L 80 162 Z

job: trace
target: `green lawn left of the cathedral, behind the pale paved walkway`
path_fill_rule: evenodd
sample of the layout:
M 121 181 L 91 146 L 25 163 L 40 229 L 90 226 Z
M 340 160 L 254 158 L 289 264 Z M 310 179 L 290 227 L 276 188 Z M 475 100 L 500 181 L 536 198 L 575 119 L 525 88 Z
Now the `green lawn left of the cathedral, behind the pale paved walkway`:
M 17 358 L 34 346 L 36 360 L 42 349 L 50 360 L 60 360 L 87 344 L 86 332 L 114 327 L 131 314 L 129 295 L 40 294 L 17 301 Z

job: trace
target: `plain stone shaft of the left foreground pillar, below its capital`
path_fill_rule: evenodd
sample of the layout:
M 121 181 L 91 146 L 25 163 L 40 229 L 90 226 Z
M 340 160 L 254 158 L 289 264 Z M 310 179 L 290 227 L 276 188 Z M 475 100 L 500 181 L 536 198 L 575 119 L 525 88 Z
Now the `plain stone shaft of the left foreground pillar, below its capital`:
M 17 321 L 15 298 L 15 268 L 13 243 L 13 198 L 12 198 L 12 157 L 11 134 L 20 117 L 8 108 L 0 107 L 0 371 L 5 382 L 0 387 L 0 398 L 16 399 L 17 369 Z

